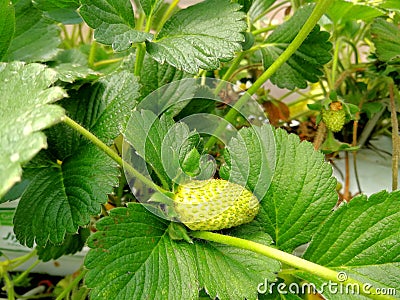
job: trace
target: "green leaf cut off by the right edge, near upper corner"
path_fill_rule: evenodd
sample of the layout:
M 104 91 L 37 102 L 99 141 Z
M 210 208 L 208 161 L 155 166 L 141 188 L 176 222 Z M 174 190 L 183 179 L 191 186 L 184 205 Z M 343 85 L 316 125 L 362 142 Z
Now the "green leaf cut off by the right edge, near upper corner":
M 384 19 L 375 19 L 371 26 L 371 36 L 380 60 L 400 62 L 400 30 L 396 25 Z

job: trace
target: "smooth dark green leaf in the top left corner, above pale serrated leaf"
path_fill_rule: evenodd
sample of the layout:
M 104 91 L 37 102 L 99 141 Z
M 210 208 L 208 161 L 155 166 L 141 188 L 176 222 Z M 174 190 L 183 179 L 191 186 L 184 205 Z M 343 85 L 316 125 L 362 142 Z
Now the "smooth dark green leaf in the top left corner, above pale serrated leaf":
M 15 33 L 6 56 L 7 61 L 48 61 L 59 49 L 60 28 L 42 16 L 30 0 L 15 3 Z

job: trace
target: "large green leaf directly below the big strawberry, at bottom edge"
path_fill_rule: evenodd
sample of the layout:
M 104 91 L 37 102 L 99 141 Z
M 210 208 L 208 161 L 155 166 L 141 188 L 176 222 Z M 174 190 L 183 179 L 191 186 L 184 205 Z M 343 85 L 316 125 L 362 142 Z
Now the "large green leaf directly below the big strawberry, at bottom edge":
M 234 247 L 173 241 L 168 226 L 137 203 L 100 220 L 85 260 L 91 298 L 190 300 L 198 299 L 204 286 L 222 300 L 256 299 L 257 285 L 273 280 L 279 270 L 278 262 Z M 271 242 L 252 227 L 238 228 L 236 234 Z

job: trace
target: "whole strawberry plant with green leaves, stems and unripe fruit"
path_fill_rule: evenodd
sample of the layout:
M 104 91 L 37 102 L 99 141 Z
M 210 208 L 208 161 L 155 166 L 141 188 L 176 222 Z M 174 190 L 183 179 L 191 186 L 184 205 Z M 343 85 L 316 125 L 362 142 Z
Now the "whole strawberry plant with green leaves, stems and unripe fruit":
M 291 1 L 280 25 L 287 1 L 178 2 L 0 0 L 0 201 L 33 249 L 0 262 L 8 299 L 85 245 L 54 298 L 398 298 L 400 193 L 339 204 L 324 154 L 264 110 L 268 80 L 325 80 L 328 129 L 354 117 L 332 85 L 349 2 Z M 362 7 L 400 143 L 398 4 Z

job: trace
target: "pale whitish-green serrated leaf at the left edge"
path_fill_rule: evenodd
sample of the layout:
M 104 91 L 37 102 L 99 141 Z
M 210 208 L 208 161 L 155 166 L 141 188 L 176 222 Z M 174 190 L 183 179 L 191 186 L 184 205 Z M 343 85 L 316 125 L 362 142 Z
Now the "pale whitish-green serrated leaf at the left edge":
M 21 164 L 47 142 L 41 130 L 61 121 L 64 110 L 52 102 L 65 96 L 50 87 L 56 73 L 40 64 L 0 64 L 0 197 L 21 179 Z

